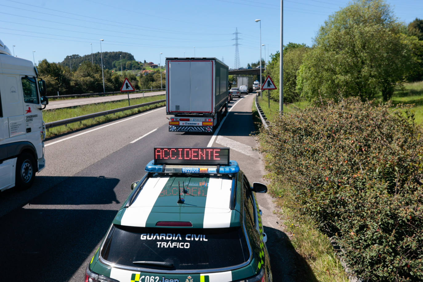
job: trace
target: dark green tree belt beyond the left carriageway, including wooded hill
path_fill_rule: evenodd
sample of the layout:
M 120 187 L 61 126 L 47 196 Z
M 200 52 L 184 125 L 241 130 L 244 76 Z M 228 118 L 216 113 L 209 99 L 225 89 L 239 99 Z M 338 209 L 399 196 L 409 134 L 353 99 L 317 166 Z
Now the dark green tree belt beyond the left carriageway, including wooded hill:
M 121 63 L 124 75 L 121 74 Z M 105 92 L 120 91 L 125 77 L 135 90 L 158 89 L 162 85 L 165 88 L 166 74 L 163 69 L 161 82 L 159 68 L 151 68 L 146 61 L 144 63 L 135 61 L 132 54 L 103 52 L 103 64 Z M 88 55 L 67 56 L 61 63 L 50 63 L 44 59 L 38 63 L 37 69 L 39 76 L 46 81 L 47 96 L 103 92 L 99 53 L 93 54 L 93 60 Z M 153 72 L 140 73 L 147 69 Z

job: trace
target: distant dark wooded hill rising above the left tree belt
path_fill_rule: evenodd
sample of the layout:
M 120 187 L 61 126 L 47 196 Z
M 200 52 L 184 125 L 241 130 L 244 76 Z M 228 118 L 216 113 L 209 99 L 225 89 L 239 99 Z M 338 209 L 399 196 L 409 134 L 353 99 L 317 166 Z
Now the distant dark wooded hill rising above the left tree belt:
M 114 61 L 119 61 L 121 59 L 120 55 L 122 55 L 122 62 L 126 61 L 134 61 L 134 55 L 127 52 L 103 52 L 103 65 L 107 69 L 113 69 L 115 66 L 113 65 Z M 79 66 L 80 63 L 84 61 L 90 61 L 91 62 L 91 54 L 89 55 L 70 55 L 70 61 L 69 56 L 66 56 L 66 58 L 60 62 L 61 65 L 71 67 L 75 70 Z M 98 64 L 101 66 L 101 56 L 100 52 L 93 53 L 93 63 Z

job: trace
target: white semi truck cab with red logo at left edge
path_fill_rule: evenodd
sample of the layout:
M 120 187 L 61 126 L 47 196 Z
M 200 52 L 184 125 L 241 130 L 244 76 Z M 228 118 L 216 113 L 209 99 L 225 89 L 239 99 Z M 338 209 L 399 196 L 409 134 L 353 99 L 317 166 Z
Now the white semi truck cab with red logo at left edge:
M 46 83 L 0 40 L 0 191 L 29 188 L 45 166 Z M 44 107 L 43 107 L 44 106 Z

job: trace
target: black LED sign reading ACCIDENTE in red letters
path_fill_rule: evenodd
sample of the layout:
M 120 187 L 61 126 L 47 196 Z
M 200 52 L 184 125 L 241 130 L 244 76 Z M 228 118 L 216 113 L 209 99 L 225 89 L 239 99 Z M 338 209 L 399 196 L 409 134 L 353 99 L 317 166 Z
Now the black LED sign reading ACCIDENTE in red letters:
M 229 165 L 229 148 L 154 147 L 154 164 Z

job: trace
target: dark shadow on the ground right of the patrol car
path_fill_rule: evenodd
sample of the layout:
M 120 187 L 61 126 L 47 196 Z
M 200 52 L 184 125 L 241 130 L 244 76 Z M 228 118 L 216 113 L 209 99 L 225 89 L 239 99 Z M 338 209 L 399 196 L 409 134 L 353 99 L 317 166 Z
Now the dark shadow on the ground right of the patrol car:
M 297 253 L 288 236 L 280 230 L 264 226 L 272 267 L 273 281 L 318 282 L 307 261 Z

